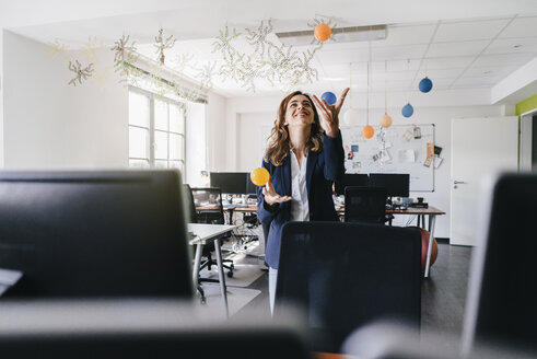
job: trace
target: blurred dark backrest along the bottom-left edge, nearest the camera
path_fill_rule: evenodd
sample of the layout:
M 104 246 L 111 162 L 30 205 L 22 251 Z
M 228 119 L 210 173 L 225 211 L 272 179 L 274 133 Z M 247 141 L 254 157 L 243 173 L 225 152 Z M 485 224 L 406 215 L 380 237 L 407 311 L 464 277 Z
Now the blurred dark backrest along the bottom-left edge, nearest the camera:
M 0 306 L 2 358 L 308 359 L 299 317 L 223 321 L 179 301 L 46 302 Z M 203 310 L 207 310 L 203 308 Z M 258 352 L 259 351 L 259 352 Z M 255 354 L 253 356 L 253 354 Z

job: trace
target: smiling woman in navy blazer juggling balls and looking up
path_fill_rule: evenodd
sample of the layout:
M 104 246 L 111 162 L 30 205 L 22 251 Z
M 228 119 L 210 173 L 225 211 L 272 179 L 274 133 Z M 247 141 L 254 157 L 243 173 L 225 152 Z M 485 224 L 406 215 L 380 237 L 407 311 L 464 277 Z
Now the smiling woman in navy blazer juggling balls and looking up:
M 271 312 L 283 224 L 338 220 L 331 188 L 332 182 L 345 173 L 339 111 L 348 92 L 349 89 L 343 90 L 335 105 L 300 91 L 280 104 L 262 161 L 270 181 L 257 192 L 257 216 L 269 229 L 265 262 L 269 266 Z

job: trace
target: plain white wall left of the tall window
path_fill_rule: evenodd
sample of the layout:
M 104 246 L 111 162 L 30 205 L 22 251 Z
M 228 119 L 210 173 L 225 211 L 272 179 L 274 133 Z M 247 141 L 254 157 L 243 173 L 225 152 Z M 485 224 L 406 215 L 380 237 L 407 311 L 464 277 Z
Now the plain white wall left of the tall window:
M 97 53 L 95 77 L 68 85 L 72 72 L 44 44 L 4 32 L 4 165 L 7 169 L 128 165 L 128 93 Z

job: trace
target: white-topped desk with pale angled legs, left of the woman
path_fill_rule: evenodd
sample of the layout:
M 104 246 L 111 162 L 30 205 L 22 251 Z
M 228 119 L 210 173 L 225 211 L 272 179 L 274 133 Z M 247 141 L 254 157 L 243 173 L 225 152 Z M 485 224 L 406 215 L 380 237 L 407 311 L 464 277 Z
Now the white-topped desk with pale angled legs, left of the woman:
M 194 258 L 192 280 L 194 287 L 198 288 L 199 266 L 201 264 L 201 253 L 203 245 L 208 241 L 214 241 L 214 252 L 217 254 L 218 279 L 220 281 L 220 290 L 224 301 L 225 316 L 230 316 L 227 309 L 227 288 L 225 287 L 224 267 L 222 265 L 222 248 L 220 246 L 220 238 L 233 231 L 236 225 L 229 224 L 203 224 L 188 223 L 188 232 L 192 232 L 195 238 L 190 240 L 190 245 L 196 245 L 196 254 Z

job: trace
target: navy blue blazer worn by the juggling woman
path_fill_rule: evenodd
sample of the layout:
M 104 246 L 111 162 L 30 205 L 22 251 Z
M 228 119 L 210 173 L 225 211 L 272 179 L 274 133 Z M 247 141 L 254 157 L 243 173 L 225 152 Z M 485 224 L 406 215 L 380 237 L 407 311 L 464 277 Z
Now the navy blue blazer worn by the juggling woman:
M 341 131 L 336 138 L 323 134 L 322 152 L 310 151 L 306 166 L 306 189 L 311 221 L 338 221 L 332 200 L 332 183 L 345 173 L 345 152 Z M 291 160 L 283 159 L 282 165 L 262 161 L 270 173 L 270 181 L 280 196 L 291 196 Z M 280 258 L 281 229 L 291 219 L 291 201 L 279 204 L 275 211 L 265 209 L 262 187 L 257 188 L 257 216 L 264 225 L 269 225 L 265 262 L 278 269 Z

